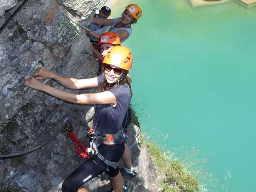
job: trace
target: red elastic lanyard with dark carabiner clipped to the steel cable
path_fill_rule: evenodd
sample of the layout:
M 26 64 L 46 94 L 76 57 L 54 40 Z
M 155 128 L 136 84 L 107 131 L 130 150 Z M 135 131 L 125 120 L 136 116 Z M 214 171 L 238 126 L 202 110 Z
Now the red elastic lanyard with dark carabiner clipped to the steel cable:
M 71 118 L 66 118 L 63 123 L 62 123 L 62 127 L 65 128 L 66 130 L 68 130 L 68 133 L 70 135 L 71 140 L 73 141 L 75 148 L 76 148 L 76 152 L 82 157 L 82 158 L 90 158 L 87 148 L 78 140 L 77 136 L 74 134 L 73 132 L 73 122 L 71 120 Z M 84 152 L 79 150 L 79 147 L 84 150 Z

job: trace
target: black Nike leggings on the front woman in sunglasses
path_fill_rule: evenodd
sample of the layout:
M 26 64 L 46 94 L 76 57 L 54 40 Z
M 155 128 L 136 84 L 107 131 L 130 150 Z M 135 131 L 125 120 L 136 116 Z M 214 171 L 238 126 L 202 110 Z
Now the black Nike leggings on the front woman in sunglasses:
M 106 159 L 112 162 L 118 162 L 124 154 L 124 143 L 120 145 L 102 144 L 98 150 Z M 108 166 L 109 172 L 106 171 L 106 168 L 107 165 L 96 155 L 90 156 L 89 159 L 85 160 L 82 165 L 64 180 L 62 184 L 62 192 L 77 192 L 80 186 L 103 172 L 108 173 L 110 177 L 115 177 L 119 173 L 118 167 L 114 169 L 111 166 Z

